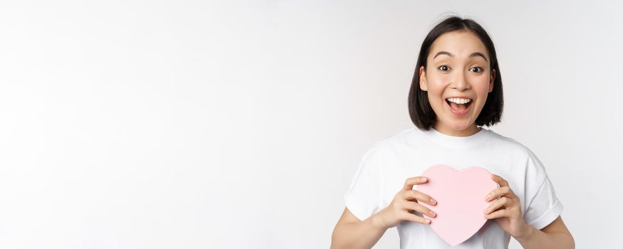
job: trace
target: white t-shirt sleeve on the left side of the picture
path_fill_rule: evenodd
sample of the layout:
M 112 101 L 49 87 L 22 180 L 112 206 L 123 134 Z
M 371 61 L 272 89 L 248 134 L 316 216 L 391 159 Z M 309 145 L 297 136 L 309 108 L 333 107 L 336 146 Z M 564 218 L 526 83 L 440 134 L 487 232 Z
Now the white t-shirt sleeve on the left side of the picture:
M 344 194 L 346 208 L 360 221 L 381 210 L 381 181 L 376 171 L 378 167 L 372 158 L 373 151 L 374 148 L 369 149 L 361 158 L 349 189 Z

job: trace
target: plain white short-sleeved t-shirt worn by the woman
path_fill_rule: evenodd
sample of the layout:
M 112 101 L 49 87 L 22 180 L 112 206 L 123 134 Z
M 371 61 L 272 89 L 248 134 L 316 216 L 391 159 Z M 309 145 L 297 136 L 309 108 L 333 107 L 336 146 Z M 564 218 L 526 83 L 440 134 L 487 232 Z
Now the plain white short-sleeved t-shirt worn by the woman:
M 539 230 L 562 213 L 562 203 L 536 155 L 515 139 L 484 127 L 468 137 L 453 137 L 433 127 L 428 131 L 413 127 L 379 139 L 362 157 L 344 194 L 346 208 L 361 221 L 369 218 L 391 203 L 406 179 L 420 176 L 433 164 L 457 170 L 480 166 L 502 176 L 519 196 L 525 222 Z M 510 235 L 495 220 L 488 220 L 475 235 L 454 247 L 428 224 L 402 221 L 396 228 L 402 249 L 508 248 L 510 242 Z

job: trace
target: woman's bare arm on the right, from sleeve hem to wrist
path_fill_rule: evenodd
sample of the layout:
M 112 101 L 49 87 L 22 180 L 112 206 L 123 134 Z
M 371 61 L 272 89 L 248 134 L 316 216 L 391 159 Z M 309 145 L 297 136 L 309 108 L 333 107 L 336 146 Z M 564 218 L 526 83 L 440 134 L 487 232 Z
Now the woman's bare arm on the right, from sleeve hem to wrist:
M 541 230 L 529 227 L 524 237 L 515 238 L 523 248 L 575 248 L 573 236 L 560 216 Z

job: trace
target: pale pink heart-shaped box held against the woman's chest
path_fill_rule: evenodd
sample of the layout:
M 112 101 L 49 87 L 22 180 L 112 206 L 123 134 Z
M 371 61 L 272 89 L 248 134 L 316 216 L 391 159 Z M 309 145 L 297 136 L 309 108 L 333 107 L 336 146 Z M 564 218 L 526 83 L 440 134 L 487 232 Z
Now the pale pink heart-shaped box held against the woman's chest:
M 428 182 L 416 185 L 416 189 L 434 198 L 437 204 L 418 203 L 437 213 L 434 218 L 426 218 L 431 220 L 433 231 L 448 244 L 463 243 L 485 225 L 483 212 L 490 205 L 485 196 L 499 186 L 488 170 L 470 166 L 457 171 L 448 165 L 435 164 L 421 176 L 426 176 Z

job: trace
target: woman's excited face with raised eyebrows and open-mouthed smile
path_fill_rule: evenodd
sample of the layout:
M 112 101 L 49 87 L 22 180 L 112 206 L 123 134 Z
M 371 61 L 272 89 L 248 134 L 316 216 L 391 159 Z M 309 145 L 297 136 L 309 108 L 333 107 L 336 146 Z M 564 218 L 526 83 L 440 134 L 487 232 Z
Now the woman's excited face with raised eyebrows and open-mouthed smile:
M 470 31 L 444 33 L 433 42 L 426 65 L 419 69 L 420 88 L 437 115 L 433 127 L 456 137 L 478 132 L 475 120 L 495 79 L 485 45 Z

